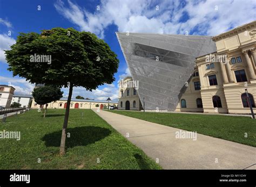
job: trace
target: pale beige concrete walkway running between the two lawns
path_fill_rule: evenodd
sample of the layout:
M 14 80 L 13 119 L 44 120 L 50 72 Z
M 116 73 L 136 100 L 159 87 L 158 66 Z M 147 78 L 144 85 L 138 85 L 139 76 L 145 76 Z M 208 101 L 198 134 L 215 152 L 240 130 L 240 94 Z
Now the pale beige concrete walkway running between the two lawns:
M 159 160 L 164 169 L 256 169 L 255 147 L 203 134 L 197 134 L 196 141 L 177 139 L 178 128 L 93 111 L 125 137 L 129 133 L 127 139 L 153 160 Z

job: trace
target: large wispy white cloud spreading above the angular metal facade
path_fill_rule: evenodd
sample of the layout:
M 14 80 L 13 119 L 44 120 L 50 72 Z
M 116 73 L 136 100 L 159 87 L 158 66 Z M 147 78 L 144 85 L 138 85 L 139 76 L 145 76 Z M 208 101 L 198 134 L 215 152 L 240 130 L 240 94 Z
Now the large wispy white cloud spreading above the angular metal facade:
M 104 37 L 107 26 L 114 24 L 119 32 L 154 32 L 217 35 L 230 27 L 255 20 L 256 1 L 248 0 L 205 0 L 205 1 L 146 1 L 110 0 L 101 1 L 100 10 L 90 13 L 86 6 L 61 0 L 56 10 L 80 30 L 90 31 Z M 159 10 L 156 10 L 156 5 Z M 180 21 L 184 15 L 187 19 Z

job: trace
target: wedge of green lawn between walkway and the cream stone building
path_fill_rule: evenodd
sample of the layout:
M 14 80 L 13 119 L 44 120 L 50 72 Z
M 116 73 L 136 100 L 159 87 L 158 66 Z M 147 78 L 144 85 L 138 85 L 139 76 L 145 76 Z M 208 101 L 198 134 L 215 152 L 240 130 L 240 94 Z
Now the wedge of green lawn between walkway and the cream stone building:
M 249 117 L 117 110 L 111 112 L 256 147 L 256 119 Z

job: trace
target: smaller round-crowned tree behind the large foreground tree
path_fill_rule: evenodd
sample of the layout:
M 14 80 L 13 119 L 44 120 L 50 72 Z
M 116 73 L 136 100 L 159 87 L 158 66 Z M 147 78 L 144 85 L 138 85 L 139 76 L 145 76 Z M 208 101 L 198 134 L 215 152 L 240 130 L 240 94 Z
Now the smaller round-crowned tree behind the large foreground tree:
M 35 88 L 32 91 L 32 96 L 35 102 L 39 105 L 45 105 L 44 118 L 47 110 L 47 103 L 54 102 L 62 98 L 63 91 L 57 87 L 45 85 L 43 87 Z

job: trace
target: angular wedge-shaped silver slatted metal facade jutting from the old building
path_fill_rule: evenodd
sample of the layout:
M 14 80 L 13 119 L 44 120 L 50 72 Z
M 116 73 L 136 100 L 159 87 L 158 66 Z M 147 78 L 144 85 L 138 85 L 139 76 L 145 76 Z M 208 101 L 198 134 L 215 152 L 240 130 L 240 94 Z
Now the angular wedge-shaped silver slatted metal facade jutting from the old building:
M 216 52 L 212 37 L 120 33 L 117 38 L 145 110 L 174 111 L 198 56 Z

